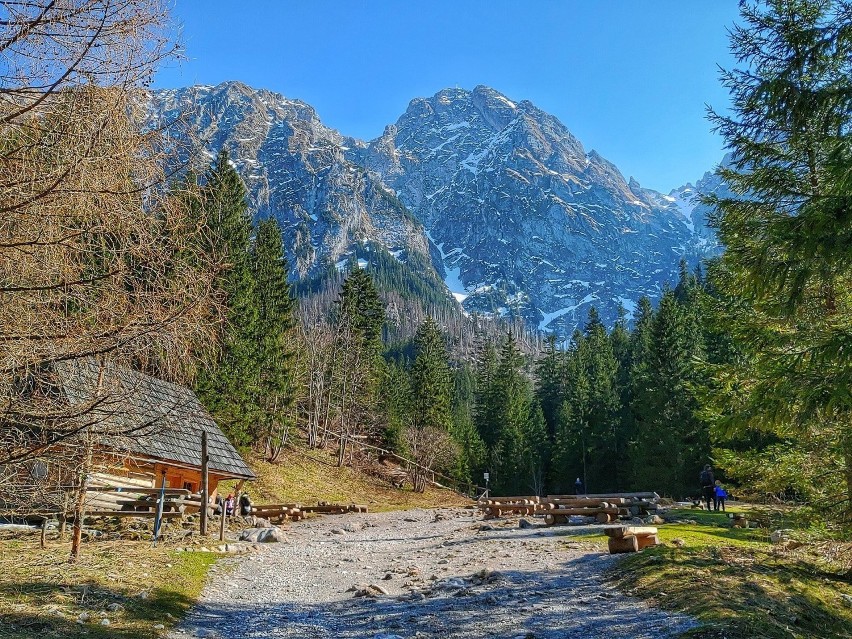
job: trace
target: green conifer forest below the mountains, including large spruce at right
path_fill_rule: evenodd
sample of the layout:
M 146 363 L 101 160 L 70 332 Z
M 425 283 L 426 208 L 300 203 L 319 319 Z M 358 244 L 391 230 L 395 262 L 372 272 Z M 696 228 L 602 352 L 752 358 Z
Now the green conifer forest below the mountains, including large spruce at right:
M 592 310 L 567 343 L 454 313 L 436 283 L 377 249 L 357 256 L 366 269 L 353 259 L 345 273 L 300 284 L 301 305 L 276 291 L 279 316 L 258 326 L 287 337 L 258 337 L 250 327 L 271 292 L 250 282 L 274 222 L 252 230 L 236 174 L 220 180 L 241 230 L 214 235 L 245 256 L 232 271 L 244 275 L 227 276 L 222 291 L 254 292 L 229 305 L 241 316 L 229 315 L 214 378 L 201 377 L 208 405 L 271 459 L 288 436 L 335 442 L 341 464 L 370 442 L 414 462 L 418 489 L 425 468 L 474 485 L 487 472 L 502 494 L 579 480 L 593 492 L 689 497 L 712 463 L 735 492 L 848 513 L 849 38 L 827 6 L 801 5 L 744 6 L 732 32 L 743 63 L 723 75 L 733 110 L 710 117 L 733 152 L 720 169 L 733 196 L 704 196 L 723 255 L 694 271 L 681 264 L 656 306 L 642 299 L 611 329 Z M 229 171 L 220 158 L 203 188 L 220 188 L 215 175 Z M 284 256 L 272 257 L 283 282 Z M 400 312 L 412 299 L 413 319 Z M 280 367 L 275 381 L 247 384 L 267 362 Z M 274 418 L 249 417 L 268 409 L 260 398 Z

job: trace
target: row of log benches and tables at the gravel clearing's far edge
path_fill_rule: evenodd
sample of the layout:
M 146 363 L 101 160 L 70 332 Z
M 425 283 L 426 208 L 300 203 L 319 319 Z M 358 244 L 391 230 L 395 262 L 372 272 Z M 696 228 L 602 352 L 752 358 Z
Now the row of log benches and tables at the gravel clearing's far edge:
M 646 516 L 657 510 L 657 493 L 493 497 L 479 502 L 485 519 L 503 515 L 544 515 L 547 525 L 564 524 L 572 516 L 592 517 L 608 524 L 619 518 Z

